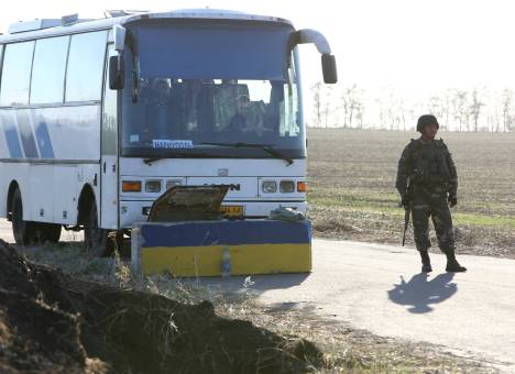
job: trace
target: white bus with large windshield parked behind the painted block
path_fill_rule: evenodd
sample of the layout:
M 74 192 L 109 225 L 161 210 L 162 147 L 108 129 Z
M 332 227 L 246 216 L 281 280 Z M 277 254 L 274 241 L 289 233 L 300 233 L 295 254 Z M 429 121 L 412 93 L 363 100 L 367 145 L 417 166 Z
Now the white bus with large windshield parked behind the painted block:
M 297 45 L 325 37 L 218 10 L 19 22 L 0 36 L 0 217 L 17 243 L 85 230 L 96 254 L 175 185 L 230 185 L 223 209 L 306 209 Z

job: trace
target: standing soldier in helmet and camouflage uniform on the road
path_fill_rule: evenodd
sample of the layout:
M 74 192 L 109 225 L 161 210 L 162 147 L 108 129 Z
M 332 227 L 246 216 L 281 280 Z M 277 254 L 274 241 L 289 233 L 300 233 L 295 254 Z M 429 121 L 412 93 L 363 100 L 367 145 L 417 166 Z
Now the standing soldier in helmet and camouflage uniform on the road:
M 454 256 L 454 234 L 449 206 L 458 204 L 458 175 L 443 141 L 436 140 L 439 124 L 435 116 L 418 119 L 421 136 L 404 148 L 398 162 L 396 188 L 405 209 L 412 210 L 415 244 L 420 252 L 423 272 L 431 272 L 428 249 L 429 217 L 432 219 L 440 250 L 447 256 L 447 272 L 465 272 Z

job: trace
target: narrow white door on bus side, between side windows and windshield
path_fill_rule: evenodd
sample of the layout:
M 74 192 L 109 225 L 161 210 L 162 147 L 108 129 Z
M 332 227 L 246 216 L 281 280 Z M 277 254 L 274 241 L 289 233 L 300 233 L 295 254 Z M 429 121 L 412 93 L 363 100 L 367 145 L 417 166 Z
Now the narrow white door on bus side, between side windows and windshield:
M 103 85 L 100 157 L 100 227 L 103 229 L 119 228 L 118 91 L 109 88 L 109 57 L 116 54 L 113 44 L 109 44 Z

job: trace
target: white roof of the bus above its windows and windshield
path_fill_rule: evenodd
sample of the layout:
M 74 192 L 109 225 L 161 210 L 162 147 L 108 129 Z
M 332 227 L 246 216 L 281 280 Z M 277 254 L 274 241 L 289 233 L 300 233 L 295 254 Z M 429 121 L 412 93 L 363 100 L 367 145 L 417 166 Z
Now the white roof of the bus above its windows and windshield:
M 34 20 L 28 22 L 18 22 L 10 26 L 11 33 L 1 35 L 0 44 L 18 42 L 25 40 L 35 40 L 57 35 L 68 35 L 88 31 L 106 30 L 116 24 L 124 25 L 140 20 L 149 19 L 190 19 L 190 20 L 241 20 L 241 21 L 265 21 L 280 22 L 293 26 L 292 22 L 277 16 L 256 15 L 220 9 L 180 9 L 169 12 L 138 12 L 125 13 L 123 11 L 113 11 L 111 14 L 118 16 L 99 20 L 77 20 L 70 25 L 59 24 L 59 20 Z M 23 31 L 21 24 L 26 24 L 28 31 Z M 59 25 L 56 25 L 59 24 Z

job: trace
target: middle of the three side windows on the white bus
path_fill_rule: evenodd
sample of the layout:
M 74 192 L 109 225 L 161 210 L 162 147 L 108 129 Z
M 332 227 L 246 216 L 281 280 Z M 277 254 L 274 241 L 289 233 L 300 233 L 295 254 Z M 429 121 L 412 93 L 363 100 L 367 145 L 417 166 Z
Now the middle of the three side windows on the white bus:
M 63 102 L 69 36 L 36 42 L 32 65 L 31 105 Z

